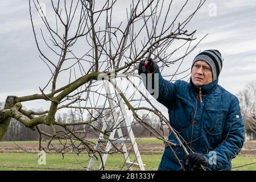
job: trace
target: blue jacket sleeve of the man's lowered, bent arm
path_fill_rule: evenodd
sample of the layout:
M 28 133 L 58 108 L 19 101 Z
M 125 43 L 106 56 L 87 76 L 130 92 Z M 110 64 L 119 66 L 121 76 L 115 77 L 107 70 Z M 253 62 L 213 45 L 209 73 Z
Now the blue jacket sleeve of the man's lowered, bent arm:
M 206 166 L 211 170 L 230 169 L 228 164 L 241 151 L 244 142 L 244 126 L 236 97 L 231 102 L 228 115 L 224 123 L 224 140 L 214 151 L 204 155 Z

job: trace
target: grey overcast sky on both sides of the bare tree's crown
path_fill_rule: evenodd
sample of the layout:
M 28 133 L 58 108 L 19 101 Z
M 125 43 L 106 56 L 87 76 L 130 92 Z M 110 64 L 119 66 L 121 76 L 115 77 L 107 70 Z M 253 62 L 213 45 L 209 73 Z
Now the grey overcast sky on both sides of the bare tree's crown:
M 176 3 L 179 1 L 176 1 Z M 191 1 L 193 2 L 193 1 Z M 212 4 L 214 3 L 214 4 Z M 212 13 L 216 6 L 216 16 Z M 256 79 L 256 1 L 207 1 L 193 17 L 188 30 L 197 39 L 208 36 L 186 59 L 189 67 L 199 51 L 218 49 L 224 64 L 219 84 L 236 94 Z M 40 81 L 49 78 L 39 59 L 29 16 L 28 1 L 1 1 L 0 6 L 0 101 L 8 95 L 39 93 Z M 46 74 L 44 74 L 46 73 Z M 31 107 L 36 104 L 31 105 Z

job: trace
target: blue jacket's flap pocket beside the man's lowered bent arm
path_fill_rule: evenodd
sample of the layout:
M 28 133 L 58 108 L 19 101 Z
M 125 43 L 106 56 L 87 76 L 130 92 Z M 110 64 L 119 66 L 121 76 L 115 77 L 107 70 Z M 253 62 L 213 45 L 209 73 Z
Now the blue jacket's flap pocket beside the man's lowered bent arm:
M 203 119 L 205 133 L 211 136 L 220 135 L 221 137 L 225 117 L 225 110 L 206 109 Z

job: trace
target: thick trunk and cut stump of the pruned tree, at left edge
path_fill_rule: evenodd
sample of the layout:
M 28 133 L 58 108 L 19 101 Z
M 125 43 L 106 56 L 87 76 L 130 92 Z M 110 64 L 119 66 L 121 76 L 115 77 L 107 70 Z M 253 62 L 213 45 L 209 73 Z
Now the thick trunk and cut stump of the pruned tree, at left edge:
M 10 109 L 16 104 L 16 96 L 8 96 L 5 102 L 4 109 Z M 3 113 L 0 111 L 0 140 L 5 136 L 6 131 L 10 125 L 11 117 L 4 117 Z

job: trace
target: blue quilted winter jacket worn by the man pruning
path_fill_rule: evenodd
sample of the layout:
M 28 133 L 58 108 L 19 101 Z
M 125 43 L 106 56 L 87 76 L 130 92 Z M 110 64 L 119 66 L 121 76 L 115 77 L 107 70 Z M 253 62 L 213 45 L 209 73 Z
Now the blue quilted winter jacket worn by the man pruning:
M 181 141 L 188 143 L 188 152 L 191 148 L 203 154 L 207 159 L 205 166 L 210 170 L 230 169 L 231 160 L 241 151 L 244 141 L 237 97 L 215 80 L 201 88 L 200 101 L 200 89 L 192 81 L 179 80 L 173 84 L 164 80 L 159 68 L 155 73 L 159 73 L 159 96 L 156 100 L 168 108 L 170 124 L 181 135 Z M 177 144 L 172 149 L 183 167 L 180 167 L 170 147 L 166 147 L 158 169 L 187 169 L 183 148 L 171 132 L 168 140 Z

